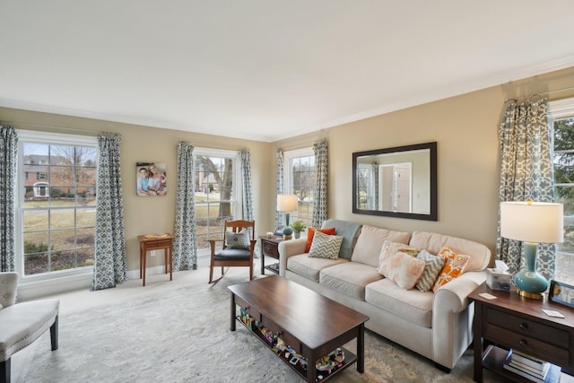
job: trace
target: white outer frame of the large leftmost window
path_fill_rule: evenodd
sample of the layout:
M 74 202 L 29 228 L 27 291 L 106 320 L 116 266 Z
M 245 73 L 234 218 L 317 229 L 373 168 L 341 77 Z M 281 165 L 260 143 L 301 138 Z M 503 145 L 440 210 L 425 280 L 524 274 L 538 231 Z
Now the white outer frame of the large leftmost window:
M 32 131 L 16 129 L 18 136 L 18 156 L 16 166 L 16 196 L 15 196 L 15 271 L 20 276 L 20 283 L 41 283 L 53 282 L 61 278 L 73 278 L 76 281 L 91 280 L 93 275 L 93 266 L 83 266 L 76 269 L 57 270 L 50 273 L 42 274 L 24 274 L 24 246 L 23 246 L 23 211 L 24 201 L 20 191 L 24 187 L 26 178 L 23 166 L 25 165 L 23 144 L 49 144 L 49 145 L 67 145 L 67 146 L 88 146 L 99 151 L 98 138 L 92 135 L 69 135 L 63 133 L 51 133 L 44 131 Z M 96 167 L 97 173 L 97 167 Z

